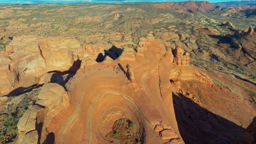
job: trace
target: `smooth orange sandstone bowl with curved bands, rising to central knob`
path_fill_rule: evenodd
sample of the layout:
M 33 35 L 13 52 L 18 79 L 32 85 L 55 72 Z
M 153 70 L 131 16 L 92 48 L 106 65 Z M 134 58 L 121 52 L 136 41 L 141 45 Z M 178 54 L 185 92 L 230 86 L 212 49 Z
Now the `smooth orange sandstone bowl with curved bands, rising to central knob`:
M 170 90 L 170 85 L 166 81 L 169 75 L 167 71 L 170 70 L 172 62 L 165 55 L 167 51 L 164 45 L 151 36 L 149 34 L 148 39 L 144 40 L 143 46 L 146 49 L 141 51 L 143 57 L 136 55 L 134 61 L 123 58 L 115 61 L 104 60 L 77 71 L 75 79 L 68 88 L 71 92 L 69 114 L 59 113 L 52 120 L 53 123 L 46 125 L 48 133 L 55 134 L 56 143 L 71 142 L 71 140 L 73 143 L 107 142 L 104 136 L 112 129 L 113 122 L 119 117 L 131 119 L 137 124 L 139 131 L 147 129 L 147 132 L 143 133 L 146 143 L 166 142 L 173 138 L 180 143 L 183 142 L 173 117 L 173 108 L 169 105 L 172 103 L 171 91 L 166 91 Z M 165 60 L 160 60 L 161 58 Z M 161 64 L 159 61 L 162 61 Z M 121 68 L 124 71 L 121 71 Z M 148 71 L 152 72 L 148 73 Z M 160 77 L 160 90 L 159 85 L 155 85 L 159 81 L 159 74 L 164 74 Z M 164 99 L 164 102 L 160 99 Z M 156 103 L 161 105 L 156 106 Z M 165 106 L 167 109 L 164 108 Z M 168 123 L 168 126 L 163 127 L 168 127 L 171 132 L 163 131 L 162 139 L 160 137 L 153 139 L 153 135 L 159 135 L 155 133 L 154 127 L 160 121 Z M 79 128 L 82 125 L 85 129 Z M 71 131 L 73 135 L 69 135 Z

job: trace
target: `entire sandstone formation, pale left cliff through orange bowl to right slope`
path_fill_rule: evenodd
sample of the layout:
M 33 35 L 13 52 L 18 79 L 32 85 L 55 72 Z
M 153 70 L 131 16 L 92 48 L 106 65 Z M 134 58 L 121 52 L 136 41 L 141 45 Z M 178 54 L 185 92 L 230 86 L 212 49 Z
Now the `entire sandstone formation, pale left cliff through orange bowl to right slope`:
M 124 57 L 114 60 L 106 56 L 104 58 L 107 60 L 96 62 L 96 57 L 104 52 L 105 46 L 113 45 L 83 47 L 76 40 L 68 38 L 41 37 L 20 38 L 11 42 L 7 49 L 11 52 L 10 56 L 0 57 L 5 62 L 1 63 L 3 71 L 15 72 L 14 68 L 17 68 L 19 85 L 30 77 L 36 77 L 32 79 L 33 84 L 44 83 L 37 95 L 37 104 L 43 107 L 34 106 L 26 111 L 18 124 L 19 137 L 16 142 L 40 139 L 40 143 L 47 143 L 54 134 L 55 143 L 108 143 L 105 136 L 112 130 L 113 123 L 120 118 L 129 118 L 136 124 L 138 133 L 143 133 L 139 136 L 144 143 L 184 143 L 176 121 L 177 111 L 174 111 L 172 93 L 185 95 L 196 104 L 200 104 L 198 100 L 208 91 L 226 94 L 225 98 L 231 98 L 229 95 L 233 94 L 214 85 L 202 71 L 189 65 L 188 52 L 177 47 L 173 55 L 164 44 L 154 39 L 152 33 L 147 38 L 139 39 L 136 48 L 138 55 L 131 55 L 134 57 L 132 61 L 126 57 L 134 50 L 127 49 Z M 126 50 L 127 47 L 123 48 Z M 114 50 L 110 52 L 109 55 L 115 55 Z M 49 77 L 54 75 L 49 71 L 68 71 L 68 67 L 78 59 L 83 61 L 82 67 L 65 88 L 57 83 L 48 83 L 51 82 Z M 186 67 L 181 67 L 183 65 Z M 13 85 L 15 81 L 10 83 Z M 200 91 L 200 86 L 203 91 Z M 203 100 L 210 105 L 207 98 Z M 245 101 L 239 100 L 241 103 Z M 243 116 L 251 117 L 255 112 L 250 112 L 253 108 L 246 106 L 238 107 L 246 111 Z M 225 109 L 223 105 L 219 107 Z M 216 113 L 223 115 L 222 111 Z M 231 113 L 235 115 L 233 109 Z M 230 117 L 227 119 L 240 122 Z M 40 125 L 40 128 L 36 125 Z

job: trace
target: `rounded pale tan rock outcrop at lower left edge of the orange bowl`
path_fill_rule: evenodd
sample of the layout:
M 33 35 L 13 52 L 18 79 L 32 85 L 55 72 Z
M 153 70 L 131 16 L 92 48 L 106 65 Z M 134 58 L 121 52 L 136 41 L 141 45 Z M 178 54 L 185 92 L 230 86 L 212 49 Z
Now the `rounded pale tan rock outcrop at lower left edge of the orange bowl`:
M 45 83 L 38 94 L 38 105 L 28 109 L 21 117 L 18 127 L 18 137 L 14 143 L 39 143 L 48 135 L 46 128 L 50 119 L 69 105 L 65 89 L 57 83 Z M 40 134 L 40 135 L 38 135 Z M 40 142 L 40 143 L 42 143 Z

